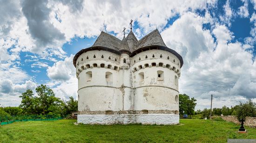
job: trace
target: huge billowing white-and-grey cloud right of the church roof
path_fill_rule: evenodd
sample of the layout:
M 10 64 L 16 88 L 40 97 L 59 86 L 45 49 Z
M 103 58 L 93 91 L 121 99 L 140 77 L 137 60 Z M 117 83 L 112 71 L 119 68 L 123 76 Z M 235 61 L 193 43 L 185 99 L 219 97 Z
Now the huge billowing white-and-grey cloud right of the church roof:
M 207 22 L 205 17 L 187 13 L 162 31 L 168 47 L 183 57 L 181 93 L 198 99 L 197 108 L 209 107 L 210 94 L 219 101 L 218 107 L 256 98 L 256 66 L 245 48 L 250 46 L 232 43 L 233 33 L 225 25 L 216 23 L 211 31 L 203 29 Z

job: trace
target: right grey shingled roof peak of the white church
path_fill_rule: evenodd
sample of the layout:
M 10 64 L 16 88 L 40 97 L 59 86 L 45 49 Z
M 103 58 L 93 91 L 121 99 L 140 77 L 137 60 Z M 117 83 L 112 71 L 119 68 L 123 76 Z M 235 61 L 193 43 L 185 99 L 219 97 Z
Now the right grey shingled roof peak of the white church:
M 145 37 L 141 38 L 136 45 L 136 50 L 140 49 L 142 47 L 148 47 L 148 46 L 163 46 L 163 47 L 167 47 L 163 40 L 162 37 L 159 33 L 159 31 L 156 29 L 152 32 L 150 32 L 148 35 L 146 35 Z

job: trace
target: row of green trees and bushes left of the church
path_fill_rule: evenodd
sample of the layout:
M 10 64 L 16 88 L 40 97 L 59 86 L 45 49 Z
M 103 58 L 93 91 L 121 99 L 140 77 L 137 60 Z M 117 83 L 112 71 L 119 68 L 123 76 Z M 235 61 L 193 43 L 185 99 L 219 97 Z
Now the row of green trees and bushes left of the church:
M 0 107 L 0 116 L 13 115 L 63 115 L 76 112 L 78 101 L 72 96 L 68 101 L 55 97 L 52 89 L 46 85 L 40 85 L 35 89 L 37 96 L 30 89 L 20 95 L 21 104 L 18 107 Z

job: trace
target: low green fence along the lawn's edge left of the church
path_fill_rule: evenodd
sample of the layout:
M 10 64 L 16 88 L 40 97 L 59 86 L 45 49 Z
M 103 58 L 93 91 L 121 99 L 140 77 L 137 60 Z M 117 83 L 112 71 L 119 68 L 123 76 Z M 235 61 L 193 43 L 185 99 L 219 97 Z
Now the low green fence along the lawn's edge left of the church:
M 13 122 L 23 121 L 50 121 L 63 119 L 64 116 L 54 115 L 15 115 L 15 116 L 0 116 L 0 125 L 11 124 Z

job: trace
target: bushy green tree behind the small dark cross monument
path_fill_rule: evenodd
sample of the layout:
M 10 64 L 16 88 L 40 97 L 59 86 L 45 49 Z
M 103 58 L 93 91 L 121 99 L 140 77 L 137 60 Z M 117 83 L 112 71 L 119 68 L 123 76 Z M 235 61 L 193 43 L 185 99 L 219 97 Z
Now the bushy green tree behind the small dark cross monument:
M 246 103 L 240 102 L 236 112 L 238 120 L 245 119 L 246 117 L 256 117 L 256 103 L 251 99 L 246 101 Z

